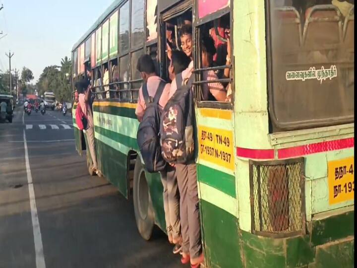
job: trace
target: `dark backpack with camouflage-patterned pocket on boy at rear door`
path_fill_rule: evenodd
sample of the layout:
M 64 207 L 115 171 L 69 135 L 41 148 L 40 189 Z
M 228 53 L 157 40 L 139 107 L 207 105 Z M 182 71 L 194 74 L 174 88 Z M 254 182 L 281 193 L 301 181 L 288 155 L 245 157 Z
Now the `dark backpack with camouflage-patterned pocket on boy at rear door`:
M 193 75 L 182 84 L 179 73 L 176 83 L 177 90 L 161 117 L 161 150 L 167 162 L 185 164 L 194 158 Z

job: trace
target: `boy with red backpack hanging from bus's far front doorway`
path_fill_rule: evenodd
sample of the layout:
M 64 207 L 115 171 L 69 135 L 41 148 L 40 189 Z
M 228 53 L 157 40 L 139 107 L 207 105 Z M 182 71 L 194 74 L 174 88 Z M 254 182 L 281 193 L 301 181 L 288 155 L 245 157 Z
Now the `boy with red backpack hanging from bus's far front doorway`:
M 91 154 L 91 158 L 93 161 L 93 171 L 100 176 L 100 172 L 97 166 L 97 156 L 96 156 L 96 148 L 95 148 L 95 140 L 94 140 L 94 123 L 93 123 L 93 113 L 90 108 L 90 99 L 91 99 L 91 86 L 89 84 L 88 79 L 82 79 L 76 83 L 78 95 L 78 105 L 82 112 L 87 117 L 87 129 L 85 130 L 85 134 L 87 135 L 87 142 L 89 146 L 89 151 Z M 78 109 L 78 108 L 77 108 Z M 84 132 L 84 131 L 83 131 Z

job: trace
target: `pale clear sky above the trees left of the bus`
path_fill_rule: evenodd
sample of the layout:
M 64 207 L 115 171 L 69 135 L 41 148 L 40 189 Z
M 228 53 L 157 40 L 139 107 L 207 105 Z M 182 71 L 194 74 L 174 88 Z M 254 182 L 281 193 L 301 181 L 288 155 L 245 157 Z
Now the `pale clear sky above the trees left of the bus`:
M 113 0 L 0 0 L 0 72 L 28 67 L 35 83 L 43 69 L 70 58 L 74 43 Z M 6 36 L 4 36 L 6 34 Z

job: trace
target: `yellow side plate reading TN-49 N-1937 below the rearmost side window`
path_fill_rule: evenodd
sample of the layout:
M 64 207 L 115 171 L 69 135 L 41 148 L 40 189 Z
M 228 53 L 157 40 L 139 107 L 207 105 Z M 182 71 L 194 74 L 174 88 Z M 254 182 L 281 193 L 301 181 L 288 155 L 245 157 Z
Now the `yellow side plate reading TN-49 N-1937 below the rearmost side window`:
M 232 131 L 198 126 L 199 158 L 234 170 Z

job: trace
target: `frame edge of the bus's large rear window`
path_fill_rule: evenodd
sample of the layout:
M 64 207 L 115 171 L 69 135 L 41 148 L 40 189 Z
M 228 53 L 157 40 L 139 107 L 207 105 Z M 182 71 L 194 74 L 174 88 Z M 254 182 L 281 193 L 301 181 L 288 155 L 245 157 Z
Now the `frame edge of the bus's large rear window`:
M 269 113 L 269 134 L 279 132 L 289 132 L 296 130 L 306 130 L 321 127 L 344 125 L 354 122 L 354 116 L 335 117 L 330 119 L 312 119 L 307 121 L 297 121 L 282 123 L 278 122 L 274 109 L 274 83 L 273 83 L 273 62 L 272 62 L 272 42 L 271 42 L 271 0 L 265 0 L 265 40 L 266 40 L 266 71 L 267 71 L 267 92 L 268 92 L 268 113 Z

